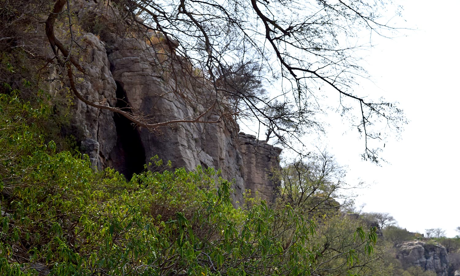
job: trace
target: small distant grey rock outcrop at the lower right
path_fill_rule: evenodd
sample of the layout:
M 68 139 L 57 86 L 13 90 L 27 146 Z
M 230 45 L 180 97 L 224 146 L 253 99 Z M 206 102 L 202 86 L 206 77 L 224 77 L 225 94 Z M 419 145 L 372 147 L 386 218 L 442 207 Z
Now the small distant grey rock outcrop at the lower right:
M 448 276 L 447 250 L 438 243 L 403 242 L 397 248 L 396 257 L 404 267 L 420 266 L 422 269 L 435 271 L 438 276 Z

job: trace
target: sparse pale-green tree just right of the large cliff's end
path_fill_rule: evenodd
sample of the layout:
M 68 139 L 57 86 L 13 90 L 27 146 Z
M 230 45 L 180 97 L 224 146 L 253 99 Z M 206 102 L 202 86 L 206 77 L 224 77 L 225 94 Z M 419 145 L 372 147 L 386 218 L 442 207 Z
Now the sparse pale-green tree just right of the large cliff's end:
M 325 152 L 309 162 L 288 164 L 281 172 L 274 208 L 282 214 L 283 208 L 291 207 L 315 224 L 315 235 L 306 246 L 317 253 L 312 260 L 311 275 L 389 275 L 392 267 L 384 258 L 388 248 L 385 245 L 370 248 L 368 243 L 357 239 L 357 229 L 370 228 L 372 238 L 369 238 L 376 241 L 377 228 L 369 227 L 359 216 L 342 213 L 344 205 L 335 200 L 346 196 L 340 191 L 347 188 L 342 182 L 344 176 L 345 167 Z M 292 230 L 283 230 L 283 247 L 291 245 L 292 236 Z

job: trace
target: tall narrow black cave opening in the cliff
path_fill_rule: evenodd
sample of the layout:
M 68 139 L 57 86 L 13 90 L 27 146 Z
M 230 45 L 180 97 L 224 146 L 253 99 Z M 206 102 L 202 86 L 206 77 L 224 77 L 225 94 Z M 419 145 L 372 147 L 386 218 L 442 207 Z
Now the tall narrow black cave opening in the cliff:
M 116 107 L 129 110 L 126 92 L 121 84 L 116 81 Z M 115 113 L 114 121 L 117 133 L 116 147 L 112 154 L 114 155 L 114 168 L 130 180 L 133 173 L 142 173 L 145 164 L 145 150 L 138 127 L 133 126 L 132 122 L 126 117 Z

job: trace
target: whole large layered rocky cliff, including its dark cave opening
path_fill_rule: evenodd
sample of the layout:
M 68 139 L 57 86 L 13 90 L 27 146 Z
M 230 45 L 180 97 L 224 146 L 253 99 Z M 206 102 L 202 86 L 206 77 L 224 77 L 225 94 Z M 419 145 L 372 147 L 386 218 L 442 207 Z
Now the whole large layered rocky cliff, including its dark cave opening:
M 155 129 L 134 127 L 121 115 L 75 99 L 71 132 L 94 166 L 114 167 L 129 178 L 158 155 L 171 160 L 173 167 L 219 168 L 223 178 L 234 179 L 236 201 L 242 201 L 247 189 L 259 191 L 262 199 L 272 199 L 276 184 L 270 180 L 270 170 L 279 170 L 281 149 L 239 133 L 234 118 L 222 116 L 221 109 L 228 108 L 226 98 L 175 53 L 174 41 L 151 39 L 147 30 L 130 35 L 117 11 L 107 6 L 85 1 L 73 5 L 78 19 L 75 39 L 84 49 L 79 59 L 86 70 L 77 84 L 81 94 L 90 101 L 140 114 L 144 121 L 202 121 Z M 46 40 L 40 47 L 52 57 Z M 57 75 L 56 69 L 50 72 L 50 78 Z M 56 94 L 61 88 L 54 85 L 51 92 Z

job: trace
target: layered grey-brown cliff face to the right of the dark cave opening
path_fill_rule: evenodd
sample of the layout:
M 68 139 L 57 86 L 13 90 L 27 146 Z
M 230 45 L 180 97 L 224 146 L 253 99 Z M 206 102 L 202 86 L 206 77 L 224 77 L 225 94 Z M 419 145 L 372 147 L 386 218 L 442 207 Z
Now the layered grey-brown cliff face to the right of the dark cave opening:
M 150 120 L 196 118 L 215 108 L 216 99 L 225 104 L 225 99 L 205 80 L 187 77 L 183 69 L 163 71 L 167 61 L 160 64 L 155 49 L 138 40 L 119 40 L 109 60 L 121 91 L 118 98 L 125 98 L 132 109 Z M 188 170 L 199 165 L 219 168 L 223 178 L 234 179 L 236 201 L 242 201 L 247 189 L 259 190 L 262 199 L 271 200 L 275 184 L 268 175 L 271 168 L 279 169 L 281 149 L 258 142 L 253 136 L 238 134 L 234 121 L 224 121 L 212 111 L 202 121 L 208 123 L 170 124 L 153 132 L 136 128 L 145 161 L 158 155 L 173 161 L 174 167 Z

